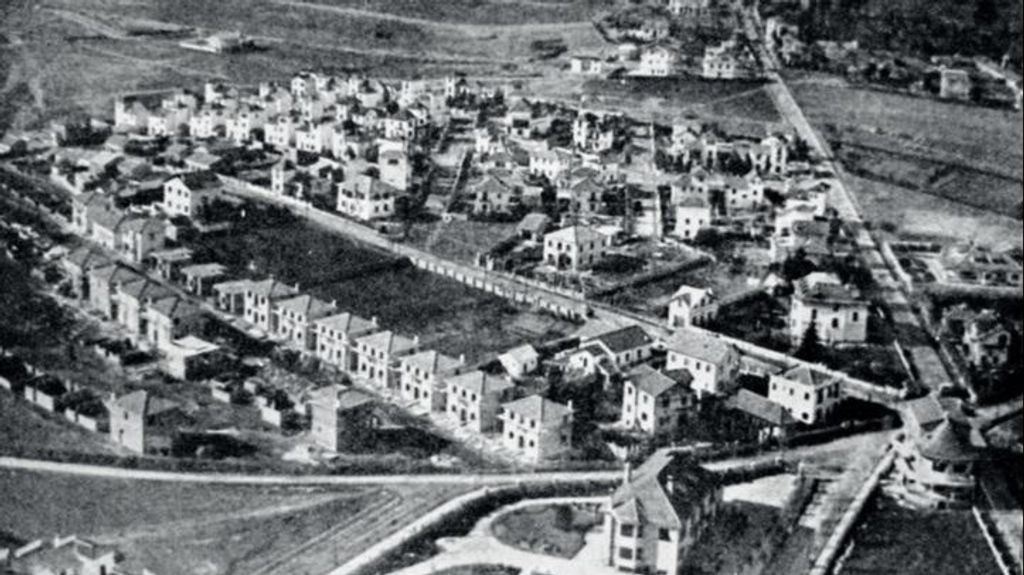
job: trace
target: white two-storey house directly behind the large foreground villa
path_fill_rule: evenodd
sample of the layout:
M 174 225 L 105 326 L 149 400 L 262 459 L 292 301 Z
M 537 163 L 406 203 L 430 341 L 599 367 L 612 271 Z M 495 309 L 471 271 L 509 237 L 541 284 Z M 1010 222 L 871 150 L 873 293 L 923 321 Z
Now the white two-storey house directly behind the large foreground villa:
M 664 372 L 638 365 L 623 384 L 622 423 L 648 435 L 672 434 L 696 404 L 693 375 L 685 369 Z

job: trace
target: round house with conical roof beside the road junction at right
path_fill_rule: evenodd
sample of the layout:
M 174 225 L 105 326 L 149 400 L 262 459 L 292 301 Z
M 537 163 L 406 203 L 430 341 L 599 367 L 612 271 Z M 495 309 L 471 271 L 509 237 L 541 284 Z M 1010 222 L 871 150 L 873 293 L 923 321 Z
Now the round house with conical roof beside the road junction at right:
M 977 494 L 985 442 L 958 414 L 947 414 L 934 396 L 908 401 L 905 433 L 895 443 L 896 480 L 934 507 L 967 506 Z

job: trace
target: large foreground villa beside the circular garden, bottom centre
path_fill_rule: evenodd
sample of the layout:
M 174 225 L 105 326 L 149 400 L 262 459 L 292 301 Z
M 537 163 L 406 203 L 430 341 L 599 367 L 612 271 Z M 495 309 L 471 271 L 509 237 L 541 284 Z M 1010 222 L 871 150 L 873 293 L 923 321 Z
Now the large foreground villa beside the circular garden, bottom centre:
M 626 471 L 604 517 L 608 565 L 627 573 L 680 575 L 715 521 L 722 486 L 710 472 L 669 450 Z

